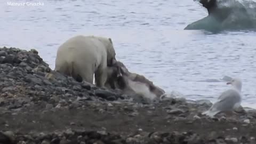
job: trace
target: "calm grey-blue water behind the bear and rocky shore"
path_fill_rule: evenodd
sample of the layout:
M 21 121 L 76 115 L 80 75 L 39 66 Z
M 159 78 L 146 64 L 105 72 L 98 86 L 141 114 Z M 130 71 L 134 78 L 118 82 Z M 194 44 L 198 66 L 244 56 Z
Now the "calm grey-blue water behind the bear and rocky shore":
M 44 6 L 8 6 L 41 2 Z M 39 51 L 54 69 L 58 46 L 75 35 L 111 37 L 117 59 L 167 93 L 215 101 L 224 76 L 243 79 L 243 105 L 256 107 L 256 32 L 183 30 L 207 15 L 193 0 L 0 1 L 0 46 Z

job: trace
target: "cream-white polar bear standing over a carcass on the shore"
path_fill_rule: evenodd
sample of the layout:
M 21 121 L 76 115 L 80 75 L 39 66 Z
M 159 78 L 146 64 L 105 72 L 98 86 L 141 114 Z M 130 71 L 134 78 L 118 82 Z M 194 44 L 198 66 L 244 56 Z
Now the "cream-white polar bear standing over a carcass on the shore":
M 116 60 L 111 38 L 78 35 L 60 45 L 55 59 L 55 71 L 103 87 L 107 66 Z

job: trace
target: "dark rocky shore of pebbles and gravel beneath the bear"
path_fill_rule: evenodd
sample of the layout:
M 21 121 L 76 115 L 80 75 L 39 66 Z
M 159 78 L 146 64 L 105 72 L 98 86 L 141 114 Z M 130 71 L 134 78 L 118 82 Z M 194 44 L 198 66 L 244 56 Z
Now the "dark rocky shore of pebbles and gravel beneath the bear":
M 0 48 L 0 143 L 256 143 L 256 111 L 201 115 L 212 103 L 147 102 L 55 73 L 36 50 Z

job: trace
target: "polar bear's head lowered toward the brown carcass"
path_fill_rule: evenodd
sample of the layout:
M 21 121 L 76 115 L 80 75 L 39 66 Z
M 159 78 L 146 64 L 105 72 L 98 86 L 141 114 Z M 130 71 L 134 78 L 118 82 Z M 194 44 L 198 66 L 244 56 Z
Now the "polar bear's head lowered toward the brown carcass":
M 107 51 L 107 65 L 112 66 L 113 63 L 116 60 L 116 52 L 113 46 L 113 42 L 111 38 L 106 37 L 98 37 L 99 40 L 103 43 L 103 45 L 106 47 Z

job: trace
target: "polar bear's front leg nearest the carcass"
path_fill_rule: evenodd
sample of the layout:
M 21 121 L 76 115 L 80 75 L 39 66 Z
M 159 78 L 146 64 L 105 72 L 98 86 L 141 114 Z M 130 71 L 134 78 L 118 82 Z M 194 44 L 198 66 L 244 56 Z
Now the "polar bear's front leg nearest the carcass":
M 100 65 L 98 69 L 95 71 L 95 84 L 98 87 L 105 86 L 108 77 L 107 65 Z

